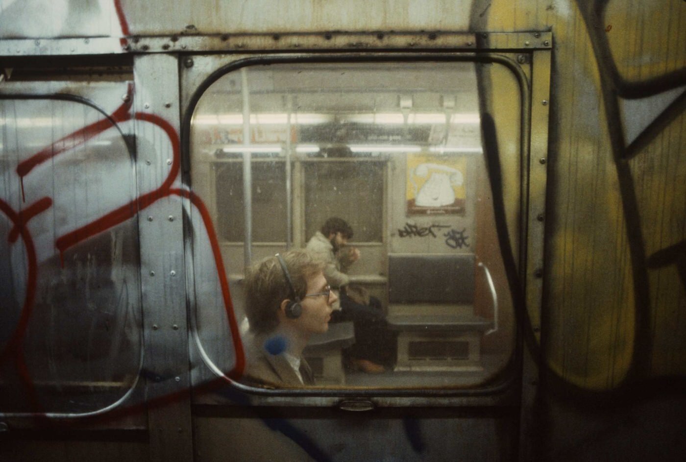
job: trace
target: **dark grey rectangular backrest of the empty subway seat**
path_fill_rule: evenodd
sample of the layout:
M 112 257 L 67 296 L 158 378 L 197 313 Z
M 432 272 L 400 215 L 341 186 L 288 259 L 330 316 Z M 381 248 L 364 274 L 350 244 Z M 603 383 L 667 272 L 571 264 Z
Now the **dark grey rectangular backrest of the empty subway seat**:
M 390 303 L 456 303 L 474 300 L 474 254 L 389 254 Z

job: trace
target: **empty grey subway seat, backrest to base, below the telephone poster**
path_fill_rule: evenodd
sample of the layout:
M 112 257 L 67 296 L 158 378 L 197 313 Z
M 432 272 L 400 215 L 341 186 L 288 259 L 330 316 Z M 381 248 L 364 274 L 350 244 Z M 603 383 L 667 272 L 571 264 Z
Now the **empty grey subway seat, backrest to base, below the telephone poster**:
M 390 254 L 388 326 L 396 371 L 481 371 L 493 321 L 475 315 L 474 254 Z

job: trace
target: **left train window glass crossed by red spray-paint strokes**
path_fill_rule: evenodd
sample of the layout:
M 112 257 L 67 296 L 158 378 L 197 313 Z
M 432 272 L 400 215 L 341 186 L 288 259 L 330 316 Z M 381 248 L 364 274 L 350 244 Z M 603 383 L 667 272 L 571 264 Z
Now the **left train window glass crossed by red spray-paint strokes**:
M 110 115 L 125 93 L 117 85 L 97 107 L 0 99 L 3 413 L 99 413 L 137 383 L 137 208 L 121 212 L 136 182 Z

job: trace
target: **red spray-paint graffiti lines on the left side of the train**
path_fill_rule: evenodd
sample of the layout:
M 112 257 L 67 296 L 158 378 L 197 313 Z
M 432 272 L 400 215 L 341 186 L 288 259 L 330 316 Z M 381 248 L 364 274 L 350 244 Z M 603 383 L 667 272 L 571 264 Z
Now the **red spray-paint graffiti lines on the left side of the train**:
M 211 216 L 206 206 L 202 202 L 202 199 L 200 199 L 198 195 L 187 189 L 172 187 L 175 180 L 178 178 L 180 171 L 181 152 L 180 138 L 178 133 L 168 121 L 155 114 L 150 114 L 147 112 L 135 112 L 132 114 L 132 96 L 133 86 L 130 84 L 128 86 L 127 95 L 124 98 L 125 102 L 112 114 L 109 114 L 108 117 L 95 123 L 91 123 L 90 125 L 86 125 L 85 127 L 82 127 L 79 130 L 76 130 L 75 132 L 72 132 L 71 134 L 62 137 L 57 141 L 54 141 L 54 143 L 51 145 L 41 149 L 36 154 L 20 162 L 16 167 L 16 174 L 19 175 L 21 181 L 22 200 L 24 202 L 26 200 L 23 179 L 36 167 L 55 158 L 56 156 L 69 155 L 70 151 L 73 151 L 73 149 L 76 147 L 83 145 L 94 136 L 97 136 L 105 130 L 108 130 L 113 126 L 113 124 L 123 123 L 134 119 L 137 121 L 150 123 L 151 125 L 161 128 L 169 138 L 173 152 L 169 173 L 167 174 L 167 178 L 165 178 L 163 183 L 153 191 L 139 195 L 139 197 L 128 202 L 128 204 L 119 206 L 118 208 L 111 210 L 105 215 L 94 219 L 84 226 L 59 236 L 55 241 L 55 246 L 60 252 L 60 262 L 62 263 L 62 267 L 64 267 L 64 252 L 70 247 L 73 247 L 82 241 L 86 241 L 87 239 L 105 232 L 106 230 L 110 230 L 111 228 L 114 228 L 128 219 L 132 219 L 141 210 L 152 206 L 152 204 L 164 197 L 179 197 L 182 199 L 187 199 L 191 206 L 195 207 L 200 212 L 200 216 L 202 217 L 202 222 L 206 231 L 206 236 L 211 245 L 215 262 L 215 270 L 217 271 L 217 276 L 220 282 L 222 301 L 224 302 L 224 310 L 228 319 L 229 330 L 233 338 L 233 347 L 236 358 L 235 366 L 227 374 L 227 376 L 237 379 L 242 375 L 245 366 L 244 350 L 241 344 L 241 337 L 239 334 L 237 321 L 235 319 L 233 304 L 231 302 L 228 279 L 226 278 L 226 269 L 224 268 L 224 261 L 222 260 L 220 245 L 217 239 L 217 234 L 214 230 Z M 6 217 L 8 217 L 8 220 L 12 226 L 8 235 L 8 241 L 10 243 L 14 243 L 21 237 L 27 256 L 25 300 L 21 308 L 21 315 L 16 324 L 16 328 L 14 328 L 7 345 L 5 345 L 5 348 L 3 348 L 3 350 L 0 352 L 0 364 L 13 363 L 16 371 L 19 374 L 19 379 L 27 391 L 27 396 L 32 408 L 34 409 L 34 413 L 38 415 L 43 413 L 43 410 L 40 406 L 38 395 L 35 391 L 34 382 L 25 363 L 24 352 L 22 349 L 25 332 L 29 324 L 29 319 L 32 316 L 34 301 L 36 299 L 37 281 L 40 276 L 38 274 L 38 258 L 36 256 L 36 247 L 34 245 L 34 239 L 27 228 L 27 223 L 33 217 L 36 217 L 36 215 L 39 215 L 41 212 L 51 208 L 52 205 L 53 201 L 50 197 L 43 197 L 34 202 L 34 204 L 17 211 L 13 210 L 10 204 L 5 202 L 3 199 L 0 199 L 0 211 L 3 212 Z

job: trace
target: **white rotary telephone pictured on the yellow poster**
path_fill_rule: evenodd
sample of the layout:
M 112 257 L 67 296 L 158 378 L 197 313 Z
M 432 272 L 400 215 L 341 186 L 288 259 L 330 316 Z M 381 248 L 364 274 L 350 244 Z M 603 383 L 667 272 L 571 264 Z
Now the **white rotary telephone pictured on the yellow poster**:
M 429 172 L 431 176 L 429 176 Z M 414 181 L 415 175 L 419 178 L 429 179 L 417 191 Z M 455 190 L 453 186 L 461 186 L 464 182 L 462 172 L 453 167 L 440 164 L 420 164 L 410 173 L 410 181 L 414 188 L 414 204 L 419 207 L 442 207 L 455 202 Z

